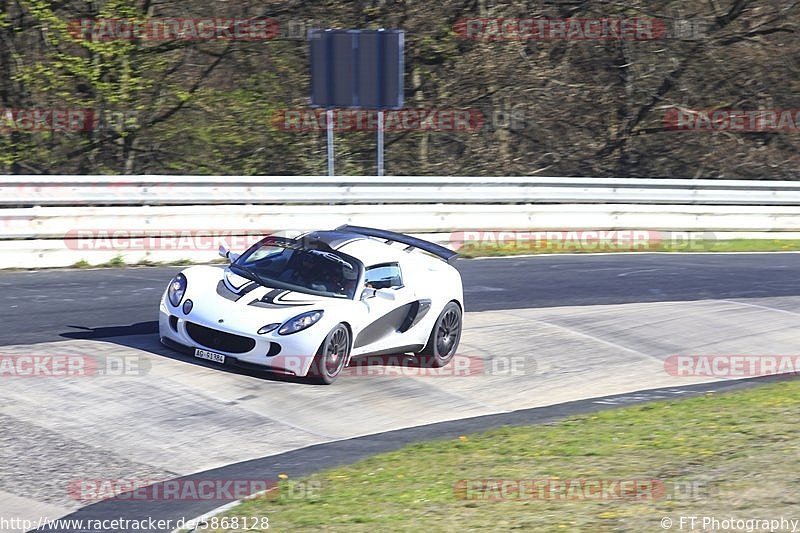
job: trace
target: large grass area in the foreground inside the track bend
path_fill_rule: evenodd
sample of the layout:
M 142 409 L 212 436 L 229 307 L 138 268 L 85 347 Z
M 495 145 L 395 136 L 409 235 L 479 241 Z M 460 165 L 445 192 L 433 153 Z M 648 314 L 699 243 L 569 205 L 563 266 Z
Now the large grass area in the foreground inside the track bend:
M 302 480 L 226 517 L 278 531 L 661 531 L 663 517 L 797 516 L 800 381 L 415 444 Z M 657 479 L 660 499 L 459 499 L 463 479 Z M 694 484 L 673 494 L 675 483 Z M 312 484 L 310 494 L 286 488 Z M 295 491 L 298 493 L 298 491 Z M 686 527 L 686 526 L 685 526 Z M 233 531 L 211 529 L 205 531 Z M 256 529 L 253 529 L 256 530 Z

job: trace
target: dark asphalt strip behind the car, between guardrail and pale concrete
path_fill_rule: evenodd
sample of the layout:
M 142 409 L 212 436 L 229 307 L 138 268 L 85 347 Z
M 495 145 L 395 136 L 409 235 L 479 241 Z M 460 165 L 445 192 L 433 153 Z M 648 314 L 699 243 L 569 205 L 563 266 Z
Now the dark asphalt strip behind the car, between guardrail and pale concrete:
M 467 311 L 800 294 L 800 254 L 552 255 L 460 260 Z M 181 268 L 0 274 L 0 346 L 154 333 Z

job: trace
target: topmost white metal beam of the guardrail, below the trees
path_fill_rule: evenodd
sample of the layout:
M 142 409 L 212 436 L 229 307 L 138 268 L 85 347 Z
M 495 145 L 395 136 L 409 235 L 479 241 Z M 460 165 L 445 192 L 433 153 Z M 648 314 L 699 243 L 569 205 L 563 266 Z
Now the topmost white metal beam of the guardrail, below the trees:
M 6 176 L 2 206 L 800 205 L 800 182 L 547 177 Z

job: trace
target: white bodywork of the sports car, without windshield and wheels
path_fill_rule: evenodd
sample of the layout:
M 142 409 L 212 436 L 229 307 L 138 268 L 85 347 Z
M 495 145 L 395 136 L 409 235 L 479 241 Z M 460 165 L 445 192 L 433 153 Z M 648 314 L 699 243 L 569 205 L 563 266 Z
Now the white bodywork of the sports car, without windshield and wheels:
M 382 238 L 371 236 L 375 234 Z M 193 351 L 198 357 L 214 360 L 213 354 L 222 355 L 224 364 L 307 376 L 326 336 L 339 324 L 350 331 L 347 366 L 353 356 L 420 352 L 429 344 L 445 306 L 455 302 L 463 312 L 461 276 L 450 264 L 456 254 L 446 248 L 355 226 L 307 233 L 296 241 L 308 249 L 329 246 L 363 263 L 354 280 L 353 297 L 310 294 L 278 284 L 263 286 L 233 272 L 231 265 L 192 266 L 181 272 L 185 291 L 178 305 L 170 301 L 169 287 L 161 298 L 161 341 Z M 232 256 L 234 261 L 239 257 Z M 365 279 L 394 272 L 393 265 L 400 269 L 401 286 L 378 290 L 366 286 Z M 377 270 L 386 266 L 389 270 Z M 396 278 L 387 283 L 397 285 Z M 187 300 L 192 302 L 188 313 Z M 282 328 L 258 333 L 268 324 L 284 324 L 315 310 L 323 311 L 322 317 L 306 329 L 290 334 L 280 334 Z M 460 337 L 460 322 L 458 333 Z

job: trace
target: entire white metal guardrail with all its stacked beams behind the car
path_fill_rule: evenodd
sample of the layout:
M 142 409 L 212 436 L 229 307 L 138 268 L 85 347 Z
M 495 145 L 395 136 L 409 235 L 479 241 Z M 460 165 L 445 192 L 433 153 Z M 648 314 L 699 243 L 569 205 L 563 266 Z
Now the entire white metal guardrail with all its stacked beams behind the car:
M 191 204 L 191 205 L 187 205 Z M 800 182 L 461 177 L 0 177 L 0 268 L 209 261 L 224 241 L 341 224 L 800 238 Z M 213 233 L 217 237 L 203 235 Z M 682 237 L 679 237 L 682 238 Z

